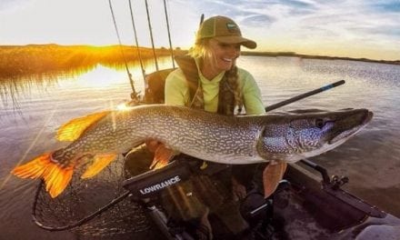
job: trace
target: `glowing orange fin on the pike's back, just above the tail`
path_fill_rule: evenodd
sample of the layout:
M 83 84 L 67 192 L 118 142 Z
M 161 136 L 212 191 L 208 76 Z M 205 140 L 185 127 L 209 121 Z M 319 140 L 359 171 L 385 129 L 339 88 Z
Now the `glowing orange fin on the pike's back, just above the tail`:
M 82 133 L 85 132 L 87 127 L 95 124 L 109 113 L 110 111 L 105 111 L 75 118 L 65 125 L 62 125 L 58 129 L 56 138 L 58 141 L 75 141 L 80 135 L 82 135 Z

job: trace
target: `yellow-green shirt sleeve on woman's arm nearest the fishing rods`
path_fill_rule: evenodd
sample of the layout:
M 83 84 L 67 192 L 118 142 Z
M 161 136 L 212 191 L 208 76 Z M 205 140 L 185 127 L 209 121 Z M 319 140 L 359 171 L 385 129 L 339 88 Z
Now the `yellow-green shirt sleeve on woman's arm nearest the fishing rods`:
M 176 69 L 165 79 L 165 105 L 185 105 L 188 89 L 184 73 Z

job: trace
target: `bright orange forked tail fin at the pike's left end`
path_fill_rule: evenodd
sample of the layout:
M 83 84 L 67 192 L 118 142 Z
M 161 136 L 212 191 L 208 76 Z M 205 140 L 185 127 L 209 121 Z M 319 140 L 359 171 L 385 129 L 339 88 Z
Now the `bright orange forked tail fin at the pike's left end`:
M 11 173 L 21 178 L 45 180 L 45 190 L 53 197 L 60 195 L 73 175 L 73 166 L 62 167 L 52 161 L 52 153 L 36 157 L 25 165 L 16 166 Z

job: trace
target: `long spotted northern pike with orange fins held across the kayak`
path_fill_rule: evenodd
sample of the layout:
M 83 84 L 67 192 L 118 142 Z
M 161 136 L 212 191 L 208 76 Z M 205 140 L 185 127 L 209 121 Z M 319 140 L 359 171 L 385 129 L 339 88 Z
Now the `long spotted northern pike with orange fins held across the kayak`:
M 139 105 L 87 115 L 62 125 L 56 137 L 72 141 L 70 145 L 16 166 L 12 173 L 22 178 L 43 178 L 46 190 L 55 197 L 68 185 L 75 167 L 93 161 L 82 175 L 92 177 L 117 155 L 147 139 L 220 164 L 295 163 L 345 143 L 372 116 L 366 109 L 226 116 L 185 106 Z M 285 165 L 275 168 L 280 169 L 278 175 L 285 172 Z M 269 172 L 274 171 L 272 167 Z

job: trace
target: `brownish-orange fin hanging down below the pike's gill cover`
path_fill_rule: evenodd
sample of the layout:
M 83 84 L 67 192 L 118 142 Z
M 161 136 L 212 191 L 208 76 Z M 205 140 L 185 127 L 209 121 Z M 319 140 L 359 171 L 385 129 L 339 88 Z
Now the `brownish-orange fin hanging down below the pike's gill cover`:
M 264 196 L 274 194 L 279 181 L 282 180 L 286 171 L 287 164 L 285 162 L 270 162 L 263 172 Z

